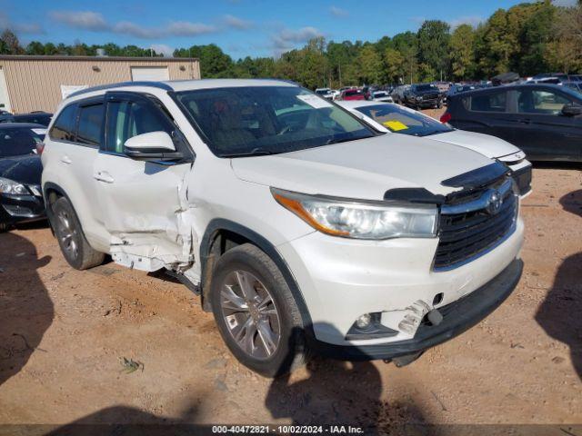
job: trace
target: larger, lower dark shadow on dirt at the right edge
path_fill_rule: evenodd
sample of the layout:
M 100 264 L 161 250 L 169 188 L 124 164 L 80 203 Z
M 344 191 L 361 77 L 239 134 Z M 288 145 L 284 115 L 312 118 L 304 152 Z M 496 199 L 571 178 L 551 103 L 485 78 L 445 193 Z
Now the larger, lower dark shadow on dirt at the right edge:
M 536 313 L 537 323 L 547 334 L 559 342 L 564 342 L 570 348 L 572 364 L 580 380 L 582 380 L 581 277 L 582 253 L 567 257 L 558 268 L 552 289 Z

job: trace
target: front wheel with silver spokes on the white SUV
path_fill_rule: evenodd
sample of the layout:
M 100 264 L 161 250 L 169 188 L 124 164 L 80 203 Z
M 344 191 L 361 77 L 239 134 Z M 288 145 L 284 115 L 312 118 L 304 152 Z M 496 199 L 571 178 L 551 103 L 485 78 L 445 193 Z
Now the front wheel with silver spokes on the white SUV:
M 266 253 L 250 243 L 227 251 L 216 262 L 210 292 L 218 330 L 239 362 L 265 377 L 305 364 L 301 314 Z

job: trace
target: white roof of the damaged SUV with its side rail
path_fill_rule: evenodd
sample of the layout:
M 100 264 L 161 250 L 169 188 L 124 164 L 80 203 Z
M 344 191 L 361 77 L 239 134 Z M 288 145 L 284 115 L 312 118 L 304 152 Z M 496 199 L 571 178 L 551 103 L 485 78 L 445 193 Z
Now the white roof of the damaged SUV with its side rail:
M 152 87 L 166 91 L 191 91 L 196 89 L 227 88 L 237 86 L 296 86 L 286 80 L 277 79 L 197 79 L 197 80 L 168 80 L 164 82 L 122 82 L 119 84 L 104 84 L 82 89 L 69 95 L 68 98 L 95 91 L 128 87 Z

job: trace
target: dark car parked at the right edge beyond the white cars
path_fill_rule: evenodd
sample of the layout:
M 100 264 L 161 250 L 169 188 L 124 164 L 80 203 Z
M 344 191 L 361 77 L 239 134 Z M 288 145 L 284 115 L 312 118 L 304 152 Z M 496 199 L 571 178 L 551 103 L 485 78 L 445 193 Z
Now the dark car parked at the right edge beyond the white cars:
M 582 162 L 582 95 L 556 84 L 517 84 L 452 95 L 441 122 L 492 134 L 534 161 Z

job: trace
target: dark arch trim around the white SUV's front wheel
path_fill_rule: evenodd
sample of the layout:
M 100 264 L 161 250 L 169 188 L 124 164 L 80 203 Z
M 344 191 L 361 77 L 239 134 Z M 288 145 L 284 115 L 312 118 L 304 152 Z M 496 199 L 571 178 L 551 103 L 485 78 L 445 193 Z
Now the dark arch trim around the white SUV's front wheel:
M 208 225 L 206 226 L 206 232 L 202 237 L 202 242 L 200 243 L 200 259 L 202 260 L 202 303 L 203 307 L 205 307 L 205 303 L 207 304 L 208 298 L 206 298 L 207 293 L 209 291 L 210 286 L 205 286 L 206 277 L 209 277 L 209 273 L 207 270 L 207 264 L 209 258 L 211 257 L 210 253 L 210 245 L 213 242 L 216 233 L 221 230 L 226 230 L 228 232 L 237 233 L 243 237 L 245 237 L 251 243 L 254 243 L 258 248 L 260 248 L 263 252 L 268 255 L 271 260 L 276 264 L 279 271 L 283 274 L 283 278 L 285 279 L 289 290 L 293 294 L 297 308 L 301 313 L 301 317 L 303 319 L 303 323 L 306 329 L 306 332 L 313 333 L 312 328 L 312 321 L 311 315 L 307 310 L 306 301 L 303 298 L 303 294 L 299 289 L 299 286 L 296 282 L 293 273 L 289 269 L 289 266 L 285 262 L 285 259 L 281 256 L 281 254 L 276 250 L 275 245 L 268 242 L 265 237 L 261 236 L 259 233 L 241 225 L 239 223 L 235 223 L 230 220 L 222 219 L 222 218 L 215 218 L 213 219 Z M 209 309 L 209 306 L 205 307 L 205 310 Z

